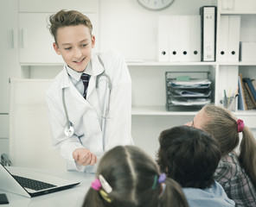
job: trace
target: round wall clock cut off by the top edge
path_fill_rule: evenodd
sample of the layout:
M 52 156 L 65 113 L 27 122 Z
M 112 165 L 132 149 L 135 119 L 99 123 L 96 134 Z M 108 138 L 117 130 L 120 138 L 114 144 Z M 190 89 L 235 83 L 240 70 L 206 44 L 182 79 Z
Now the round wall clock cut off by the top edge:
M 174 0 L 138 0 L 138 3 L 143 5 L 146 9 L 164 9 L 170 6 Z

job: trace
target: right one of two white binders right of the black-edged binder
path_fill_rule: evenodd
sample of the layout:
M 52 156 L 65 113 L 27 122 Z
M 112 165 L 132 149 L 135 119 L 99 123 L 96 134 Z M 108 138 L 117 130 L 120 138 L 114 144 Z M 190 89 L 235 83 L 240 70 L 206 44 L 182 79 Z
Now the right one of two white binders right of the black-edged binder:
M 240 16 L 229 16 L 228 23 L 228 54 L 227 61 L 239 60 Z

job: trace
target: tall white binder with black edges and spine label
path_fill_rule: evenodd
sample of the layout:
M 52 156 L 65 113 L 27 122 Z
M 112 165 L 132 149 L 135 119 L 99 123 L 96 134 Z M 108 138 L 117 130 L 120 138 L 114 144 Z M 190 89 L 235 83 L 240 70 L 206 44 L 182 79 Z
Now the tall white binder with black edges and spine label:
M 215 6 L 203 6 L 200 8 L 202 21 L 202 61 L 215 60 L 216 10 Z

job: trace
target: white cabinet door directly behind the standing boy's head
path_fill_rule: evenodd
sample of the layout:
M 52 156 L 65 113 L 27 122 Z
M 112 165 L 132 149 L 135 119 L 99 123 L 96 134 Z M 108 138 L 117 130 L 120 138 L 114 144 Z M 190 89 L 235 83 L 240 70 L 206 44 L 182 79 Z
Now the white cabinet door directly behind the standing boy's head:
M 54 51 L 54 38 L 48 30 L 48 17 L 51 13 L 20 13 L 20 62 L 27 63 L 62 63 L 61 55 Z M 93 23 L 93 34 L 98 33 L 96 14 L 85 14 Z M 94 27 L 95 25 L 95 27 Z M 97 38 L 96 38 L 97 40 Z M 95 45 L 97 50 L 97 44 Z

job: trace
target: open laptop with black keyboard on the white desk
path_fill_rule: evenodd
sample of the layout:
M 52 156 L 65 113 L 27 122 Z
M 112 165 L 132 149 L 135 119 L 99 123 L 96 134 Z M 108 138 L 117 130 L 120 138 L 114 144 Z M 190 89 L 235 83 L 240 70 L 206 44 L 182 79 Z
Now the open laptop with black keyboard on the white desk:
M 0 163 L 1 164 L 1 163 Z M 0 189 L 32 198 L 54 191 L 62 191 L 79 185 L 80 182 L 60 179 L 28 169 L 0 165 Z

